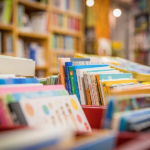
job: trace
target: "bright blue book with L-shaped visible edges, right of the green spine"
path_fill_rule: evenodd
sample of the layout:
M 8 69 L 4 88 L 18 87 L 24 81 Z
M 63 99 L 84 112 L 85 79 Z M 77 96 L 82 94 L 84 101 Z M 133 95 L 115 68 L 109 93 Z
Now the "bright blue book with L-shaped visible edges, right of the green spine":
M 80 94 L 79 94 L 79 88 L 78 88 L 78 80 L 77 80 L 76 70 L 77 69 L 86 69 L 86 68 L 107 67 L 107 66 L 108 65 L 81 65 L 81 66 L 72 66 L 76 95 L 77 95 L 77 98 L 78 98 L 78 100 L 79 100 L 80 103 L 81 103 L 81 101 L 80 101 Z

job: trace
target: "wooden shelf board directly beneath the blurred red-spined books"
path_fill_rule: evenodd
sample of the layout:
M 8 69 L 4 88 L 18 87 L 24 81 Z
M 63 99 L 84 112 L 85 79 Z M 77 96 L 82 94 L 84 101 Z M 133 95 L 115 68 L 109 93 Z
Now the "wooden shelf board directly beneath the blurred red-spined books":
M 78 37 L 78 38 L 80 38 L 82 36 L 81 32 L 68 31 L 68 30 L 63 30 L 63 29 L 58 29 L 58 28 L 51 28 L 50 31 L 54 32 L 54 33 L 70 35 L 70 36 L 74 36 L 74 37 Z

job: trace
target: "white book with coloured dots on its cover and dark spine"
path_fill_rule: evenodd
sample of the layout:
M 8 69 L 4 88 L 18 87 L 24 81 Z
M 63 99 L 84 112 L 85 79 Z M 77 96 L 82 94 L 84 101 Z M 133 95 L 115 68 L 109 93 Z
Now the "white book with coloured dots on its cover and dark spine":
M 53 128 L 69 125 L 75 131 L 90 132 L 90 125 L 75 95 L 32 98 L 10 102 L 11 113 L 22 125 L 45 126 Z M 50 113 L 53 112 L 53 113 Z M 62 114 L 63 115 L 60 115 Z M 24 117 L 23 117 L 24 116 Z M 41 122 L 41 123 L 40 123 Z

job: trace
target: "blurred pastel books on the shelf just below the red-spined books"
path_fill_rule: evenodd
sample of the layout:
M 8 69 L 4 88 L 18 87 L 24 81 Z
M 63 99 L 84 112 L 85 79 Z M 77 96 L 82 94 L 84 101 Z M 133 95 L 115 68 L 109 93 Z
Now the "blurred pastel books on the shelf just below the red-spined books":
M 72 36 L 52 34 L 52 48 L 54 50 L 77 50 L 78 39 Z

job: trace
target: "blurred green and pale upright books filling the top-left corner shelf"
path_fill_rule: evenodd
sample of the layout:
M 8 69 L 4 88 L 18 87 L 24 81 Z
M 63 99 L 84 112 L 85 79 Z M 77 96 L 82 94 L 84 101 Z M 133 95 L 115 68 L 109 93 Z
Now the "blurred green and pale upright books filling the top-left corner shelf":
M 0 1 L 0 23 L 10 24 L 12 22 L 12 0 Z

